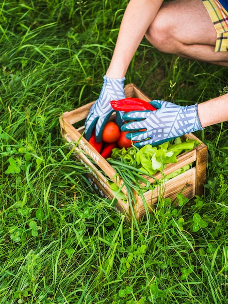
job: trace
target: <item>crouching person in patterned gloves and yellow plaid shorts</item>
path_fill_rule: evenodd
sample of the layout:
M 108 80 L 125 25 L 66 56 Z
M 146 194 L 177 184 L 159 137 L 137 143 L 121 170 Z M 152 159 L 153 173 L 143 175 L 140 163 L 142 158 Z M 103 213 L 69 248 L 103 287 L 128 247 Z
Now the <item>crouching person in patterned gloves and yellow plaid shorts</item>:
M 110 101 L 125 98 L 125 75 L 144 36 L 160 51 L 228 67 L 228 0 L 130 0 L 100 95 L 85 121 L 87 140 L 95 130 L 101 141 L 113 113 Z M 156 111 L 116 111 L 116 122 L 138 147 L 228 120 L 228 94 L 190 106 L 159 100 L 152 104 Z

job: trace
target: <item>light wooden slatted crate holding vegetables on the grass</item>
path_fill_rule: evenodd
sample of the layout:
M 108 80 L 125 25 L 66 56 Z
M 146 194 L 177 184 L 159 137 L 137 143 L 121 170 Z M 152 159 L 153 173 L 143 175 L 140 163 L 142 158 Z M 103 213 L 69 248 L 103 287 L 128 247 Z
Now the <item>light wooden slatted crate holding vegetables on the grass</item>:
M 151 99 L 134 84 L 125 86 L 125 94 L 126 97 L 137 97 L 145 101 L 151 101 Z M 91 183 L 99 189 L 100 195 L 112 200 L 114 199 L 114 193 L 107 183 L 107 178 L 114 181 L 117 186 L 121 186 L 123 181 L 117 177 L 114 178 L 116 173 L 114 168 L 82 136 L 84 131 L 84 120 L 94 102 L 95 101 L 90 102 L 73 111 L 65 112 L 60 116 L 61 132 L 65 140 L 74 145 L 77 157 L 79 157 L 84 166 L 88 168 L 88 178 L 91 180 Z M 78 124 L 80 126 L 76 129 L 73 124 Z M 200 142 L 200 145 L 190 152 L 180 154 L 177 157 L 178 162 L 175 164 L 168 164 L 163 173 L 169 174 L 191 163 L 194 163 L 193 168 L 168 180 L 154 190 L 148 190 L 144 193 L 144 197 L 135 193 L 135 203 L 133 203 L 133 206 L 132 204 L 130 205 L 129 200 L 127 203 L 122 200 L 116 200 L 117 203 L 115 206 L 118 210 L 124 212 L 128 216 L 131 216 L 132 212 L 134 212 L 136 219 L 139 219 L 146 212 L 145 201 L 147 204 L 146 208 L 150 211 L 151 207 L 158 202 L 159 197 L 168 197 L 173 202 L 177 198 L 178 193 L 182 193 L 183 196 L 189 199 L 193 198 L 195 195 L 201 196 L 203 194 L 203 184 L 206 180 L 207 146 L 193 134 L 184 135 L 183 137 L 197 139 Z M 93 159 L 95 164 L 91 159 Z M 161 173 L 157 173 L 154 176 L 159 179 Z M 154 182 L 153 178 L 147 176 L 147 179 L 150 183 Z M 127 195 L 125 186 L 123 186 L 122 191 Z

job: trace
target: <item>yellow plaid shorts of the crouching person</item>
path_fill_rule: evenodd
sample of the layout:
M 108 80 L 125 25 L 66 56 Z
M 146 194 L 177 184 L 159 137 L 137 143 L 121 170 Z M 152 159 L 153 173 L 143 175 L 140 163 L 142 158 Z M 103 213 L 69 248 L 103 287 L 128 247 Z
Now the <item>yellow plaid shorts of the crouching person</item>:
M 217 32 L 217 41 L 214 51 L 228 51 L 228 12 L 218 0 L 202 1 Z

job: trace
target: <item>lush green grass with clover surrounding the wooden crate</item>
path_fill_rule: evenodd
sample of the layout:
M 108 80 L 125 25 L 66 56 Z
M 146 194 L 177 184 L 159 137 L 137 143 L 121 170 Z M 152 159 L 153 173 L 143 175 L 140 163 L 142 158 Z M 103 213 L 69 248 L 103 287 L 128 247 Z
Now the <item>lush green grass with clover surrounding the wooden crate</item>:
M 228 123 L 208 145 L 205 193 L 127 222 L 98 197 L 59 115 L 97 98 L 127 1 L 0 2 L 0 304 L 228 303 Z M 126 84 L 191 104 L 227 90 L 227 69 L 154 50 Z M 196 217 L 206 221 L 198 225 Z

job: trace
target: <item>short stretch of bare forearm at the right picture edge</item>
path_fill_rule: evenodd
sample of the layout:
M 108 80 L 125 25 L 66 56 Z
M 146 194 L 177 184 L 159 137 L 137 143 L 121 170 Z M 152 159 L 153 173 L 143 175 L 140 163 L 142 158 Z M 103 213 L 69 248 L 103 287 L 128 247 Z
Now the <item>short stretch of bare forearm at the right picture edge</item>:
M 198 104 L 198 116 L 203 128 L 228 120 L 228 94 Z

